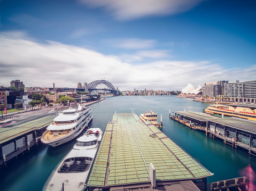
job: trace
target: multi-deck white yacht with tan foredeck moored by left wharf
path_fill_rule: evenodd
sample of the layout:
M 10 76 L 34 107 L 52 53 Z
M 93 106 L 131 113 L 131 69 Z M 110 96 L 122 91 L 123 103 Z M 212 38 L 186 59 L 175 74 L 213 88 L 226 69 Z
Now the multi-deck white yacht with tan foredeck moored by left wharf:
M 69 107 L 59 114 L 46 128 L 41 142 L 56 147 L 79 136 L 92 119 L 90 107 L 79 105 L 77 110 Z

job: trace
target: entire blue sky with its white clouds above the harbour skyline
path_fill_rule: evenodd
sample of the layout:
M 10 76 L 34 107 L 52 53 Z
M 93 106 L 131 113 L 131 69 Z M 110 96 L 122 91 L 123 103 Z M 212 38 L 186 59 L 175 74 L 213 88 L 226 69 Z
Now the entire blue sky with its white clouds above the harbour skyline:
M 255 1 L 0 0 L 0 85 L 255 80 L 255 23 Z

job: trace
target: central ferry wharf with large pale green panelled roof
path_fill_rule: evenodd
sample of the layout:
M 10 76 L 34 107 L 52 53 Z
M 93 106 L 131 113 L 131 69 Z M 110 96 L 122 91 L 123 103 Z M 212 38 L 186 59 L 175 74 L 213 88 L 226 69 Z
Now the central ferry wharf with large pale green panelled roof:
M 206 190 L 212 175 L 150 121 L 114 113 L 85 185 L 89 191 Z

